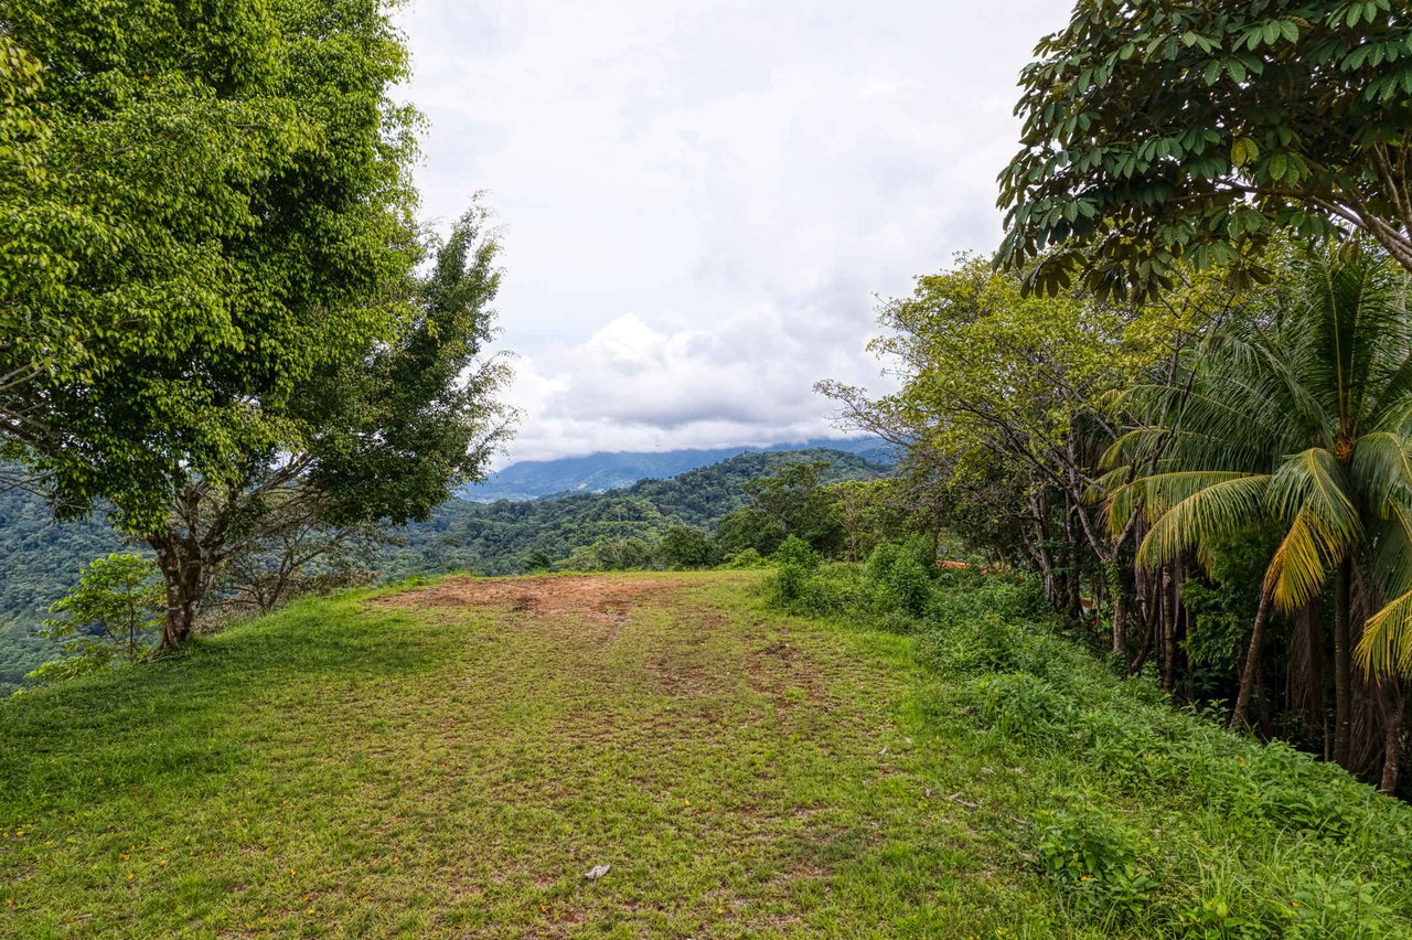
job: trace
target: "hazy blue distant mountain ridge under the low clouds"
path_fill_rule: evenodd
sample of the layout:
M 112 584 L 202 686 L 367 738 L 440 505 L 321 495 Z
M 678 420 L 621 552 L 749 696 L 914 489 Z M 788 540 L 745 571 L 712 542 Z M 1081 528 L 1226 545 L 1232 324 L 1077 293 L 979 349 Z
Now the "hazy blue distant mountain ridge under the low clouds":
M 590 453 L 559 460 L 521 460 L 493 474 L 486 483 L 466 487 L 460 497 L 472 502 L 538 500 L 566 493 L 607 493 L 640 480 L 665 480 L 688 470 L 729 460 L 741 453 L 827 449 L 856 453 L 874 463 L 894 463 L 892 449 L 880 438 L 806 440 L 768 447 L 717 447 L 712 450 L 666 450 L 662 453 Z

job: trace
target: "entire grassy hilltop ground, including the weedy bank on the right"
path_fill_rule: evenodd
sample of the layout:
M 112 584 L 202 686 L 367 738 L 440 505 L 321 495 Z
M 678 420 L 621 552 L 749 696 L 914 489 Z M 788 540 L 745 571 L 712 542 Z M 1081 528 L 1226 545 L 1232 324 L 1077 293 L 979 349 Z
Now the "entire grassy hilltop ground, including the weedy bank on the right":
M 305 601 L 3 703 L 0 933 L 1412 936 L 1408 806 L 1058 641 L 959 685 L 754 577 Z

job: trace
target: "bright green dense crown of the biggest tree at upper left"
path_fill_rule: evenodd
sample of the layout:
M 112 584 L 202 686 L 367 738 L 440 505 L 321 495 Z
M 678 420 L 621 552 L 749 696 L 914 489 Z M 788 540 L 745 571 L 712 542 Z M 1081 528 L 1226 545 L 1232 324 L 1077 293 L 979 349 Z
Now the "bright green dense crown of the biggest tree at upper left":
M 418 257 L 378 0 L 0 0 L 0 440 L 151 526 L 298 447 Z

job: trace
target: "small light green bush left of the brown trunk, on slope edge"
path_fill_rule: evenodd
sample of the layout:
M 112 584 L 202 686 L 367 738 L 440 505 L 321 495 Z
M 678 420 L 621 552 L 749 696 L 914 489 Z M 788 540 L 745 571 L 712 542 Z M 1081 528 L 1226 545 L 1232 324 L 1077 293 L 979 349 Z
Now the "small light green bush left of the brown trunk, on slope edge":
M 165 591 L 157 565 L 147 556 L 113 553 L 95 559 L 66 597 L 55 601 L 40 631 L 64 639 L 64 659 L 28 675 L 41 683 L 88 675 L 147 656 L 161 624 Z

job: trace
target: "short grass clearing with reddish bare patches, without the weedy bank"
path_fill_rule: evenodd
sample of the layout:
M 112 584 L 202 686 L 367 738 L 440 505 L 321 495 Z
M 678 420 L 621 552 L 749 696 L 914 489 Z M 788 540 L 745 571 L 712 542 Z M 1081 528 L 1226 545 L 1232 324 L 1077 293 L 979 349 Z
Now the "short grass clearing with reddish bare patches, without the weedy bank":
M 305 601 L 3 703 L 0 933 L 1087 936 L 909 641 L 758 577 Z

